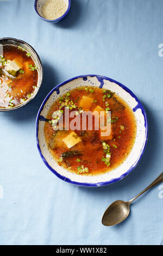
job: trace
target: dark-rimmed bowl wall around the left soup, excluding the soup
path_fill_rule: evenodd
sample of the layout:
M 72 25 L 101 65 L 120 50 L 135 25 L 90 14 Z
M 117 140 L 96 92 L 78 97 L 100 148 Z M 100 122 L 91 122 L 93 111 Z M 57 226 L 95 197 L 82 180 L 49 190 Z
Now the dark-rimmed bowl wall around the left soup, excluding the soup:
M 34 97 L 36 96 L 36 94 L 39 92 L 39 89 L 41 87 L 42 80 L 43 80 L 43 70 L 42 70 L 42 63 L 41 63 L 39 55 L 36 53 L 36 51 L 34 50 L 34 48 L 32 46 L 27 44 L 27 42 L 24 42 L 22 40 L 15 39 L 15 38 L 0 38 L 0 45 L 16 45 L 16 46 L 20 45 L 20 46 L 22 46 L 25 50 L 27 50 L 27 52 L 29 52 L 31 54 L 34 62 L 36 63 L 37 71 L 38 71 L 37 89 L 35 90 L 34 94 L 28 100 L 24 101 L 23 103 L 21 103 L 18 106 L 15 106 L 12 108 L 1 108 L 0 107 L 0 112 L 1 112 L 1 111 L 11 111 L 11 110 L 15 110 L 17 108 L 23 107 L 29 101 L 33 100 Z

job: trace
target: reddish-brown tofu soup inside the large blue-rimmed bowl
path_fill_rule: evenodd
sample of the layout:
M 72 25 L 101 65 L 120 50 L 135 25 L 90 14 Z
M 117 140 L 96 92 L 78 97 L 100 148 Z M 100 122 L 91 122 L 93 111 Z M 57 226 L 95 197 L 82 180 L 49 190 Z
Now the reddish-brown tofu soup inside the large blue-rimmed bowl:
M 80 115 L 84 111 L 103 111 L 104 115 L 111 112 L 111 132 L 101 136 L 101 129 L 54 130 L 59 116 L 68 109 Z M 56 113 L 60 113 L 56 115 Z M 94 123 L 96 116 L 93 116 Z M 96 87 L 80 87 L 70 90 L 55 101 L 47 114 L 45 138 L 48 149 L 60 166 L 79 175 L 98 175 L 116 168 L 133 148 L 136 135 L 136 121 L 133 111 L 119 96 L 109 90 Z M 70 121 L 72 118 L 70 117 Z M 56 125 L 55 125 L 56 124 Z M 86 123 L 86 127 L 88 121 Z M 80 128 L 80 129 L 79 129 Z

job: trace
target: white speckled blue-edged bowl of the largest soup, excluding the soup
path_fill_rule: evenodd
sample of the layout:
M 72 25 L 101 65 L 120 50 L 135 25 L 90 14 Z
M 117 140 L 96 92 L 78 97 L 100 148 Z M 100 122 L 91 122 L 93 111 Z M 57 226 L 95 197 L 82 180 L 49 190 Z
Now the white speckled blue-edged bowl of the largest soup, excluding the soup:
M 59 97 L 65 94 L 68 90 L 80 86 L 95 86 L 99 88 L 109 89 L 112 92 L 115 92 L 128 103 L 128 105 L 131 107 L 131 109 L 133 109 L 133 112 L 135 114 L 137 132 L 134 147 L 131 150 L 131 153 L 129 154 L 127 159 L 120 166 L 105 174 L 84 176 L 71 173 L 63 167 L 59 166 L 57 162 L 55 162 L 52 155 L 49 153 L 46 145 L 45 136 L 43 133 L 45 121 L 43 120 L 45 120 L 49 108 L 55 100 L 59 99 Z M 137 163 L 139 163 L 145 151 L 147 138 L 148 121 L 145 109 L 142 106 L 141 102 L 126 86 L 123 86 L 123 84 L 118 83 L 105 76 L 78 76 L 59 84 L 54 89 L 52 89 L 51 92 L 46 96 L 36 118 L 36 142 L 43 162 L 60 179 L 79 186 L 105 186 L 126 177 L 135 168 Z

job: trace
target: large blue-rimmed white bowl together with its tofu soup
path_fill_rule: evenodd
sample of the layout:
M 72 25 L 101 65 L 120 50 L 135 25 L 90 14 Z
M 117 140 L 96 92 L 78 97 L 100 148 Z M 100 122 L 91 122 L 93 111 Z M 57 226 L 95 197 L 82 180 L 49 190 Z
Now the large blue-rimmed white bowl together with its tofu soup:
M 147 138 L 141 102 L 105 76 L 78 76 L 59 84 L 36 118 L 43 162 L 60 179 L 79 186 L 105 186 L 125 178 L 139 163 Z

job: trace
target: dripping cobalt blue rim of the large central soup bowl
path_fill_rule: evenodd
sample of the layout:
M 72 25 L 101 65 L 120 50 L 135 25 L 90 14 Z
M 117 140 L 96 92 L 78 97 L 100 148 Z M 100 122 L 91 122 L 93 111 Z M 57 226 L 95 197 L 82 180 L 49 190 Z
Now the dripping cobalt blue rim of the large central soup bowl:
M 136 107 L 133 108 L 133 111 L 135 112 L 137 109 L 141 109 L 142 111 L 142 114 L 143 114 L 143 117 L 145 119 L 145 128 L 146 128 L 146 135 L 145 135 L 145 140 L 144 140 L 144 143 L 143 143 L 143 147 L 141 149 L 141 152 L 140 152 L 140 155 L 139 157 L 137 158 L 137 160 L 135 161 L 135 163 L 127 170 L 126 173 L 122 174 L 120 177 L 118 178 L 115 178 L 115 179 L 111 179 L 109 181 L 104 181 L 104 182 L 97 182 L 97 183 L 86 183 L 86 182 L 76 182 L 76 181 L 73 181 L 65 176 L 62 176 L 61 174 L 59 174 L 56 170 L 54 170 L 49 164 L 48 162 L 46 161 L 45 157 L 42 155 L 42 152 L 41 152 L 41 149 L 40 149 L 40 144 L 39 144 L 39 138 L 38 138 L 38 132 L 39 132 L 39 118 L 40 118 L 40 113 L 43 109 L 43 107 L 45 106 L 47 100 L 49 99 L 49 97 L 52 95 L 53 92 L 55 91 L 59 91 L 58 89 L 62 86 L 64 86 L 66 83 L 69 83 L 73 80 L 76 80 L 78 78 L 87 78 L 87 77 L 96 77 L 97 80 L 99 82 L 101 82 L 101 86 L 100 88 L 103 87 L 103 80 L 108 80 L 110 82 L 113 82 L 113 83 L 116 83 L 118 86 L 120 86 L 122 89 L 126 90 L 127 93 L 129 93 L 132 97 L 134 97 L 134 99 L 136 100 L 137 102 L 137 105 Z M 43 100 L 42 104 L 41 104 L 41 107 L 39 109 L 39 112 L 37 113 L 37 117 L 36 117 L 36 144 L 37 144 L 37 148 L 39 150 L 39 153 L 40 153 L 40 156 L 43 160 L 43 162 L 46 164 L 46 166 L 58 177 L 60 178 L 61 180 L 64 180 L 68 183 L 71 183 L 73 185 L 78 185 L 78 186 L 84 186 L 84 187 L 100 187 L 100 186 L 106 186 L 106 185 L 110 185 L 114 182 L 117 182 L 117 181 L 120 181 L 122 179 L 124 179 L 129 173 L 131 173 L 134 168 L 137 166 L 137 164 L 140 162 L 141 160 L 141 157 L 143 155 L 143 153 L 145 152 L 145 149 L 146 149 L 146 145 L 147 145 L 147 141 L 148 141 L 148 119 L 147 119 L 147 114 L 146 114 L 146 111 L 145 111 L 145 108 L 143 107 L 142 103 L 140 102 L 139 99 L 137 99 L 136 95 L 131 92 L 130 89 L 128 89 L 126 86 L 124 86 L 122 83 L 120 82 L 117 82 L 116 80 L 113 80 L 109 77 L 106 77 L 106 76 L 100 76 L 100 75 L 83 75 L 83 76 L 76 76 L 76 77 L 73 77 L 65 82 L 62 82 L 60 84 L 58 84 L 58 86 L 55 86 L 51 92 L 49 92 L 49 94 L 45 97 L 45 100 Z

